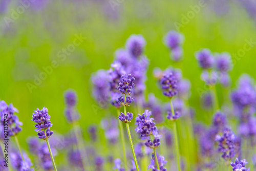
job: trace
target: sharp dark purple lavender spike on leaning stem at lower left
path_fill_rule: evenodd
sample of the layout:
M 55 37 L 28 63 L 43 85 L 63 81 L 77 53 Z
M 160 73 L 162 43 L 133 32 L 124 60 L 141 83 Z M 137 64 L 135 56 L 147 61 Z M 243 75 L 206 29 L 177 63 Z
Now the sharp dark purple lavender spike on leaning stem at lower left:
M 36 122 L 35 131 L 38 132 L 38 138 L 46 140 L 53 135 L 53 132 L 50 131 L 50 127 L 52 126 L 50 121 L 51 116 L 48 115 L 48 109 L 46 107 L 42 108 L 42 110 L 37 108 L 34 112 L 32 115 L 33 119 L 31 120 Z

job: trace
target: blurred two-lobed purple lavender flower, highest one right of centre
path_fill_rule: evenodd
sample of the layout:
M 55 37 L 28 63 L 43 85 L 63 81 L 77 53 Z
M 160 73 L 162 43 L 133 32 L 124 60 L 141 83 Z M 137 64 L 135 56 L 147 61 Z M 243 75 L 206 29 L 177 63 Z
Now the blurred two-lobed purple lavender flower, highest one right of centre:
M 166 34 L 164 40 L 167 48 L 172 50 L 170 53 L 170 57 L 174 61 L 180 61 L 183 55 L 182 44 L 184 41 L 184 36 L 179 32 L 171 30 Z

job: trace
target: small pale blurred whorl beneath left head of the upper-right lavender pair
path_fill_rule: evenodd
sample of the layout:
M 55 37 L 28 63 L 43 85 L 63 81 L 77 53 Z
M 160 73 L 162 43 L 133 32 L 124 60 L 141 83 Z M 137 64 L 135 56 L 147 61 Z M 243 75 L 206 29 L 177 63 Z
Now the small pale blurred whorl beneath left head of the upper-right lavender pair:
M 205 84 L 209 86 L 213 86 L 217 83 L 218 78 L 220 78 L 220 75 L 217 71 L 203 71 L 201 74 L 201 79 L 205 82 Z

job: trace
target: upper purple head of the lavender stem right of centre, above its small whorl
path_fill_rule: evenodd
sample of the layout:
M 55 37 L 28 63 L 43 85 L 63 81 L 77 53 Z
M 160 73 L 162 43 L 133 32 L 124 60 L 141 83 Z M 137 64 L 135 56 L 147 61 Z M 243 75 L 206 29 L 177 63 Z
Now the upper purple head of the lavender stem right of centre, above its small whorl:
M 162 89 L 164 90 L 163 95 L 169 98 L 177 95 L 177 82 L 178 81 L 172 72 L 164 75 L 160 80 Z

